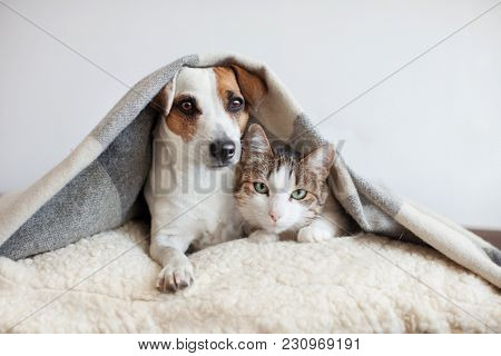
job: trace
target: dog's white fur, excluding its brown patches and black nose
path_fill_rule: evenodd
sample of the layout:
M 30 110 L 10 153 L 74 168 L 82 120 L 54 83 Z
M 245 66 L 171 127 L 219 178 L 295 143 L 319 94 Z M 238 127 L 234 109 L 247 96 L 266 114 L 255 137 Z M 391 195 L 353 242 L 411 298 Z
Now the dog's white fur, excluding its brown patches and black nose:
M 157 279 L 157 287 L 163 291 L 193 283 L 193 266 L 185 255 L 190 245 L 204 248 L 243 234 L 232 194 L 242 132 L 218 96 L 214 70 L 184 68 L 174 81 L 167 105 L 171 106 L 173 98 L 179 95 L 195 97 L 202 109 L 196 134 L 186 142 L 169 130 L 166 120 L 159 120 L 154 161 L 145 187 L 151 214 L 150 254 L 164 267 Z M 209 145 L 222 134 L 236 144 L 236 154 L 229 166 L 213 169 Z M 163 161 L 166 155 L 169 155 L 168 167 Z M 168 191 L 160 191 L 166 184 Z

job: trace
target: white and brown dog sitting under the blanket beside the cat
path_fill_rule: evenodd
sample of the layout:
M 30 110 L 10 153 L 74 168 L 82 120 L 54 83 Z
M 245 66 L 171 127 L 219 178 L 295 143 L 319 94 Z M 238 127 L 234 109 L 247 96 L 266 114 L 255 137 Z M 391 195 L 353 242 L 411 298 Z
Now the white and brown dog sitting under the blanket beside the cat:
M 232 195 L 235 164 L 249 112 L 266 92 L 265 82 L 239 66 L 184 67 L 151 101 L 160 119 L 145 198 L 151 214 L 150 256 L 163 267 L 156 281 L 160 291 L 193 284 L 185 254 L 190 246 L 243 237 Z

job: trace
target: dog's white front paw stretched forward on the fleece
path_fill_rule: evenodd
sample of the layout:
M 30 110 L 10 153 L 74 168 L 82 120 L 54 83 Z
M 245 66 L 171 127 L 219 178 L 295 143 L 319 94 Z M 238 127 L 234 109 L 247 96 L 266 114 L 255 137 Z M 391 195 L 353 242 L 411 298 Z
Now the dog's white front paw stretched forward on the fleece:
M 176 258 L 165 266 L 157 278 L 160 291 L 177 291 L 189 287 L 194 281 L 193 266 L 186 256 Z

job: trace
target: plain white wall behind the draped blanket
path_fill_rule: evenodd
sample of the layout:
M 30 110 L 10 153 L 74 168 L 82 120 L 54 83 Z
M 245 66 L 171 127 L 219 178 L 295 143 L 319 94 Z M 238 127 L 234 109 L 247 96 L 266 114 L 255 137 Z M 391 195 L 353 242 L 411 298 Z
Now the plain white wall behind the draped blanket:
M 495 0 L 7 2 L 129 85 L 186 53 L 259 59 L 320 120 Z M 501 7 L 320 128 L 364 175 L 501 228 L 500 44 Z M 1 4 L 0 58 L 6 191 L 59 162 L 127 88 Z

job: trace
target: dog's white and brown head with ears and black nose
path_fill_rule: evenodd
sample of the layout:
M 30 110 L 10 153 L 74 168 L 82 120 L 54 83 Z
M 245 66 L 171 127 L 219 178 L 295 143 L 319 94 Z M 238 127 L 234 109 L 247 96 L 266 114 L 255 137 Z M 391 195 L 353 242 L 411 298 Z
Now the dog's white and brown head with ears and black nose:
M 266 95 L 264 81 L 238 66 L 183 68 L 153 103 L 164 113 L 163 129 L 196 150 L 209 168 L 234 165 L 249 110 Z

